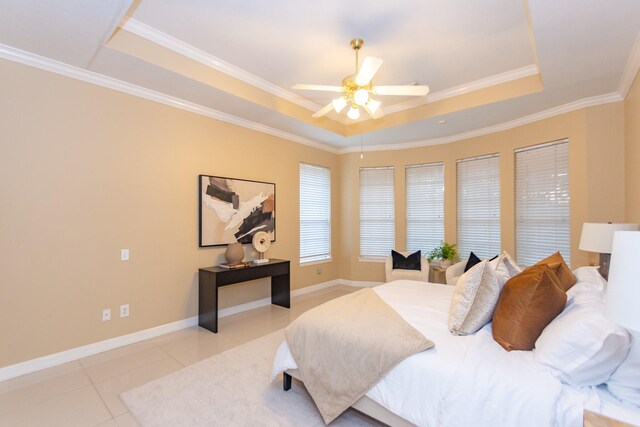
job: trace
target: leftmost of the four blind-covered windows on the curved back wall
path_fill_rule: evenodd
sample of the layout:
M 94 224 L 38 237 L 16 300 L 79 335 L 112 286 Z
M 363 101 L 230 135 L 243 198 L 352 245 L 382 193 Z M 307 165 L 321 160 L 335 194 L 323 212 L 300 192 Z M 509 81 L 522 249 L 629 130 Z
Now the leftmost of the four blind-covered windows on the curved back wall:
M 393 168 L 360 169 L 360 256 L 386 257 L 395 248 Z

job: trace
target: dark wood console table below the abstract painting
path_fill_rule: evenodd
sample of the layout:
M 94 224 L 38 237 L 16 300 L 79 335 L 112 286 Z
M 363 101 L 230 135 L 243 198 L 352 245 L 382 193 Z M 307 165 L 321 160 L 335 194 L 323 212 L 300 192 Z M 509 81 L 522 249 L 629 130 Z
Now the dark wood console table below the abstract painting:
M 198 324 L 218 332 L 218 288 L 248 280 L 271 277 L 271 304 L 291 308 L 289 261 L 271 258 L 264 264 L 226 269 L 201 268 L 198 271 Z

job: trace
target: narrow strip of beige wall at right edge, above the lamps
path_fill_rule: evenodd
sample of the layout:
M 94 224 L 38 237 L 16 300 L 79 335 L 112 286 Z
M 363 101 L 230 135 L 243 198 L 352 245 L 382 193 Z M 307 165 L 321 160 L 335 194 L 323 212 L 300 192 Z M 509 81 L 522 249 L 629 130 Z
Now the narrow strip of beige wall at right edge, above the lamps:
M 627 221 L 640 223 L 640 73 L 625 98 Z

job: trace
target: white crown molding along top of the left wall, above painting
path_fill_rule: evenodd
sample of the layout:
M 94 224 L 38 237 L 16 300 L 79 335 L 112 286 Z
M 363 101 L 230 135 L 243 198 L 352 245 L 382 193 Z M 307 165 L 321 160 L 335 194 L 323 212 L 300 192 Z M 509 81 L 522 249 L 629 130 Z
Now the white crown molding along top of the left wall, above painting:
M 179 108 L 184 111 L 189 111 L 201 116 L 206 116 L 212 119 L 231 123 L 247 129 L 255 130 L 257 132 L 266 133 L 278 138 L 297 142 L 299 144 L 308 145 L 310 147 L 317 148 L 323 151 L 329 151 L 331 153 L 338 152 L 337 148 L 327 144 L 281 131 L 279 129 L 274 129 L 272 127 L 233 116 L 231 114 L 223 113 L 222 111 L 214 110 L 213 108 L 205 107 L 194 102 L 185 101 L 183 99 L 166 95 L 155 90 L 137 86 L 132 83 L 118 80 L 113 77 L 108 77 L 93 71 L 85 70 L 83 68 L 78 68 L 73 65 L 68 65 L 63 62 L 55 61 L 53 59 L 16 49 L 11 46 L 3 45 L 1 43 L 0 58 L 19 62 L 21 64 L 29 65 L 31 67 L 39 68 L 45 71 L 50 71 L 52 73 L 60 74 L 66 77 L 71 77 L 73 79 L 95 84 L 97 86 L 102 86 L 107 89 L 113 89 L 118 92 L 123 92 L 129 95 L 137 96 L 139 98 L 147 99 L 149 101 L 165 104 L 170 107 Z

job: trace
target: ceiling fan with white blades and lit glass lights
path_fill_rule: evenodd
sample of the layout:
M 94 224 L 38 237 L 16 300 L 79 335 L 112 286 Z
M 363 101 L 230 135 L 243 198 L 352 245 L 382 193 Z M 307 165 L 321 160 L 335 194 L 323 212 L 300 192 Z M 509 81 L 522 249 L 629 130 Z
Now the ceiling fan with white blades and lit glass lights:
M 342 93 L 341 96 L 316 111 L 313 117 L 322 117 L 331 109 L 339 113 L 346 106 L 349 106 L 347 117 L 352 120 L 360 118 L 360 107 L 371 118 L 377 119 L 384 116 L 384 112 L 380 108 L 381 102 L 373 99 L 371 95 L 425 96 L 429 93 L 429 86 L 424 85 L 374 86 L 371 80 L 380 69 L 380 66 L 382 66 L 383 61 L 380 58 L 367 56 L 362 61 L 362 66 L 358 69 L 358 51 L 363 44 L 364 41 L 362 39 L 351 40 L 351 47 L 356 51 L 356 73 L 342 79 L 342 86 L 309 84 L 296 84 L 293 86 L 293 89 Z

